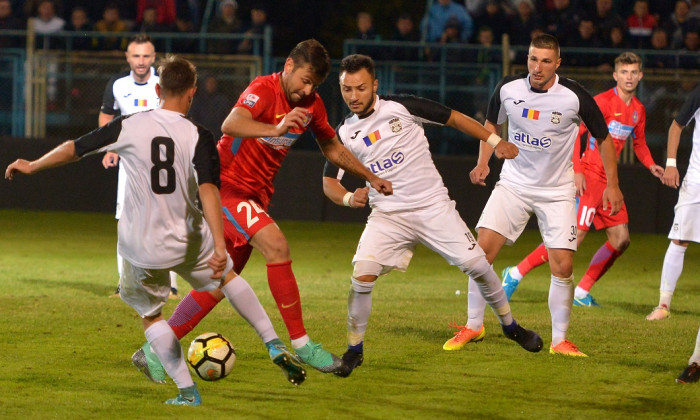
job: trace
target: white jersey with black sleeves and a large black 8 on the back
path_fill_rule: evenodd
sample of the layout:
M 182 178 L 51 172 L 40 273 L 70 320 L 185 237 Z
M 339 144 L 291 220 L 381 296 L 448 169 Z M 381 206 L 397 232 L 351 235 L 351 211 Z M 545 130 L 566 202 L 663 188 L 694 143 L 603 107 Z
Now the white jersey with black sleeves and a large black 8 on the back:
M 200 244 L 211 240 L 196 203 L 198 185 L 220 185 L 212 133 L 180 113 L 155 109 L 121 116 L 75 141 L 78 156 L 104 151 L 118 153 L 127 174 L 119 253 L 141 268 L 197 258 Z

